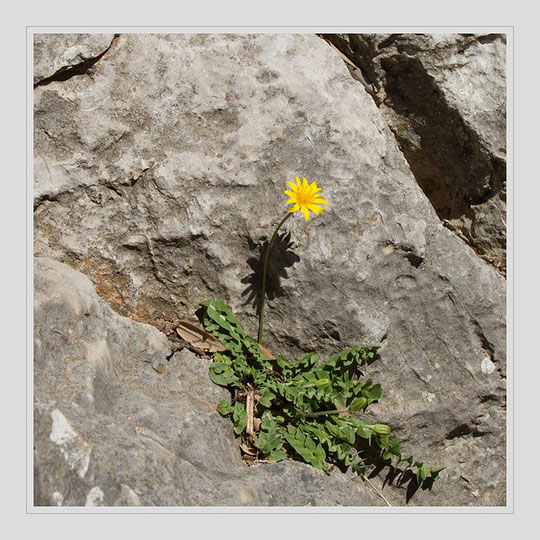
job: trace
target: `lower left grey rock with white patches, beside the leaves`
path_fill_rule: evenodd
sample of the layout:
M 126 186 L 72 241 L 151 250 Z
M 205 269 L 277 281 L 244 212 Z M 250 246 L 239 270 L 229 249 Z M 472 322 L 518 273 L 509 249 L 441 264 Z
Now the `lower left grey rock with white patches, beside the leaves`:
M 371 506 L 335 471 L 247 467 L 209 360 L 113 312 L 81 273 L 35 265 L 35 505 Z

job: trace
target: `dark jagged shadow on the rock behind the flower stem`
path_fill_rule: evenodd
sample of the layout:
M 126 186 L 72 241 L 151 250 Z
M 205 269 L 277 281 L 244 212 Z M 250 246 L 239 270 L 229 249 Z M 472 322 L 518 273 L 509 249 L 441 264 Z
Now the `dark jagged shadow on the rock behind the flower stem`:
M 251 272 L 242 279 L 242 283 L 247 285 L 242 291 L 242 297 L 244 298 L 243 304 L 251 304 L 258 312 L 261 306 L 264 257 L 268 249 L 268 239 L 265 239 L 262 243 L 255 243 L 251 238 L 248 238 L 248 243 L 249 249 L 254 251 L 256 255 L 247 260 Z M 288 277 L 287 268 L 292 267 L 300 261 L 300 257 L 294 253 L 293 247 L 290 232 L 278 234 L 272 246 L 272 254 L 268 266 L 266 297 L 269 300 L 283 296 L 284 292 L 281 287 L 281 280 Z

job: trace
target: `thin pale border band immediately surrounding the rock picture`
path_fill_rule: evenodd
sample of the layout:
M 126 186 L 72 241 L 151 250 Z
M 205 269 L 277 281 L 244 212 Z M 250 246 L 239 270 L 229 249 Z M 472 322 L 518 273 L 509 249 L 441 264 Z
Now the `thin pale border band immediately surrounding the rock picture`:
M 33 36 L 36 33 L 502 33 L 507 43 L 506 506 L 486 507 L 42 507 L 33 493 Z M 436 26 L 26 26 L 26 514 L 514 514 L 514 34 L 515 27 Z M 262 509 L 264 508 L 264 511 Z

